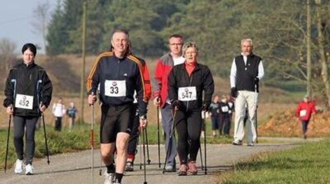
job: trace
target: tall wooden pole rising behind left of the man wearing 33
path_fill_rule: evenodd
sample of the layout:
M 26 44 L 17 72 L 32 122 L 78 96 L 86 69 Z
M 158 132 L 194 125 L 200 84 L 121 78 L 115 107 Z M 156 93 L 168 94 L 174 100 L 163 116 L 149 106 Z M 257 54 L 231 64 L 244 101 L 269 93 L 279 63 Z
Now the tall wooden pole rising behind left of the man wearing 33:
M 85 62 L 86 62 L 86 19 L 87 19 L 87 2 L 83 3 L 83 18 L 82 18 L 82 68 L 80 80 L 80 123 L 84 123 L 84 98 L 85 98 Z

